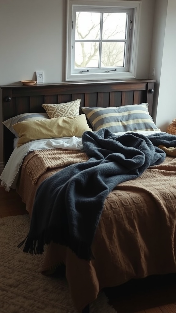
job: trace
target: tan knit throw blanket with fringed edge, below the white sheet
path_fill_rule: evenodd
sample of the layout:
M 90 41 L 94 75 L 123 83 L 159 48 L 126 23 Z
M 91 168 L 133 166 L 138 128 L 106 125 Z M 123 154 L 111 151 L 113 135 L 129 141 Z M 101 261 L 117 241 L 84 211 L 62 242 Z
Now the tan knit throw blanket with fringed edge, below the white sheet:
M 23 167 L 26 169 L 32 185 L 34 185 L 38 178 L 49 168 L 58 168 L 59 170 L 62 167 L 86 162 L 87 160 L 89 160 L 89 157 L 80 150 L 35 150 L 28 155 L 27 161 L 23 163 Z

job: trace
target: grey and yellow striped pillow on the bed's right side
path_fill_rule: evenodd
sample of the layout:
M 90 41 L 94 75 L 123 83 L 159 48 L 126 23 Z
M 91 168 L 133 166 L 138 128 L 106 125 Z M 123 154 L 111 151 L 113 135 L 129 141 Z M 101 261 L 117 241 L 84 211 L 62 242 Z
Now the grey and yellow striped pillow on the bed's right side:
M 108 108 L 82 107 L 94 131 L 108 128 L 120 131 L 160 131 L 148 112 L 148 103 Z

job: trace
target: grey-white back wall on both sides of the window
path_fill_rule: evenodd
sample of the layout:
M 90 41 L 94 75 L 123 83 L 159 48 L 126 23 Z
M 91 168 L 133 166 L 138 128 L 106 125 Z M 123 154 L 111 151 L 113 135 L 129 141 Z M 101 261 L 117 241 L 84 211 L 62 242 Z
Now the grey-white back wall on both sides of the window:
M 142 0 L 137 78 L 149 76 L 154 7 Z M 37 70 L 45 83 L 64 81 L 65 34 L 66 0 L 0 0 L 0 85 L 32 80 Z M 1 126 L 0 167 L 2 142 Z

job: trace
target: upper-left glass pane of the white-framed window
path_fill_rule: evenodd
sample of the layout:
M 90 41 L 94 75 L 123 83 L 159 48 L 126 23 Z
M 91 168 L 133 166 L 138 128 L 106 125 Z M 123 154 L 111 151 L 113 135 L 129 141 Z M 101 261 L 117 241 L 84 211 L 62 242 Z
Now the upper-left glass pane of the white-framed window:
M 76 12 L 75 39 L 100 39 L 100 12 Z

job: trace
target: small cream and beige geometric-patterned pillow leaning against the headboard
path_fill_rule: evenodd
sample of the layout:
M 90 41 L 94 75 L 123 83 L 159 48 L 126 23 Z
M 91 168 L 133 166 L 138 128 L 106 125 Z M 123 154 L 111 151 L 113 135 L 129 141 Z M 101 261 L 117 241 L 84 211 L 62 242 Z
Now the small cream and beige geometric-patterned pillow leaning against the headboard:
M 46 110 L 49 118 L 57 117 L 69 117 L 79 115 L 80 99 L 55 104 L 42 104 L 42 107 Z

